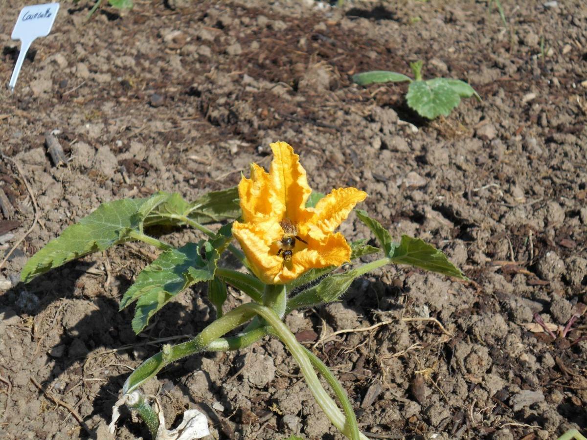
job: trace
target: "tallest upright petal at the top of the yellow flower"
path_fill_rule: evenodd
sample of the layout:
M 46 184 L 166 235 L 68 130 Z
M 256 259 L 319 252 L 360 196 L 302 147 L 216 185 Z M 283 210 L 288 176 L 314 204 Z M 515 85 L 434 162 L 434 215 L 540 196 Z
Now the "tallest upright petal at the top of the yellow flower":
M 269 174 L 272 187 L 276 198 L 285 206 L 283 216 L 297 223 L 302 220 L 300 216 L 305 212 L 306 201 L 312 192 L 306 170 L 299 163 L 299 156 L 294 154 L 294 148 L 285 142 L 272 143 L 271 150 L 273 161 Z

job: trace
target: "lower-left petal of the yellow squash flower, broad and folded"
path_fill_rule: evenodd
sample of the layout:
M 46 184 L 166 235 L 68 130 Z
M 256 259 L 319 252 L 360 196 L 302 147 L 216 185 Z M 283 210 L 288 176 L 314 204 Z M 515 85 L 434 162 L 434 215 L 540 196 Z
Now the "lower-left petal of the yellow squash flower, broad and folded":
M 281 226 L 275 221 L 259 224 L 232 224 L 232 235 L 238 240 L 247 256 L 251 269 L 266 284 L 274 284 L 284 266 L 284 259 L 277 256 L 276 242 L 282 237 Z

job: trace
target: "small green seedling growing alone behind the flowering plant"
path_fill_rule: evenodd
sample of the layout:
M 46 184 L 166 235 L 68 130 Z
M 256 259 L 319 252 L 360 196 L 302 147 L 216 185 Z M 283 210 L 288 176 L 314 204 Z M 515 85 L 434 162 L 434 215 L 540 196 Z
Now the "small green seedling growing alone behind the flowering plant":
M 448 116 L 454 107 L 458 106 L 461 98 L 474 96 L 478 100 L 481 97 L 469 84 L 458 79 L 434 78 L 422 79 L 422 62 L 410 63 L 414 79 L 397 72 L 386 70 L 373 70 L 353 75 L 353 82 L 360 86 L 373 83 L 400 83 L 410 82 L 406 99 L 411 109 L 416 110 L 420 116 L 427 119 L 435 119 L 443 115 Z

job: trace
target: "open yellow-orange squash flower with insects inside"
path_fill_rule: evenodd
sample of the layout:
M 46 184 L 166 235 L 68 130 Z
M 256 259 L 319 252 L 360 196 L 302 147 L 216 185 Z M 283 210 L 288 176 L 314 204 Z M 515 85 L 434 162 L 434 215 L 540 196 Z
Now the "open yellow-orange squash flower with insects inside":
M 349 261 L 350 247 L 334 230 L 367 194 L 333 189 L 315 208 L 306 208 L 312 189 L 299 156 L 285 142 L 271 144 L 271 150 L 269 173 L 251 164 L 251 178 L 239 183 L 244 222 L 232 225 L 255 275 L 266 284 L 286 284 L 306 270 Z

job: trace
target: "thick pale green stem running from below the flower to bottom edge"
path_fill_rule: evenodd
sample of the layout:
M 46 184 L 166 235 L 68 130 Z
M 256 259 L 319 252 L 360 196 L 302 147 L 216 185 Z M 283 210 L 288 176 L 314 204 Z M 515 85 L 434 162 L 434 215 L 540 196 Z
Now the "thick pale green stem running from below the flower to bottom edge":
M 268 324 L 272 327 L 272 333 L 281 339 L 281 341 L 288 348 L 294 359 L 299 365 L 300 371 L 303 374 L 308 388 L 312 392 L 316 402 L 322 408 L 322 411 L 326 414 L 326 417 L 330 419 L 330 422 L 344 435 L 352 440 L 367 440 L 365 435 L 359 434 L 355 436 L 352 432 L 352 422 L 346 424 L 346 418 L 340 412 L 340 409 L 336 406 L 335 402 L 330 398 L 328 393 L 322 387 L 316 371 L 312 367 L 312 363 L 306 354 L 305 348 L 302 344 L 295 339 L 294 334 L 288 329 L 281 318 L 269 307 L 261 306 L 255 303 L 243 304 L 241 307 L 254 310 L 255 313 L 259 314 Z

